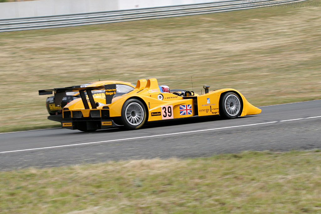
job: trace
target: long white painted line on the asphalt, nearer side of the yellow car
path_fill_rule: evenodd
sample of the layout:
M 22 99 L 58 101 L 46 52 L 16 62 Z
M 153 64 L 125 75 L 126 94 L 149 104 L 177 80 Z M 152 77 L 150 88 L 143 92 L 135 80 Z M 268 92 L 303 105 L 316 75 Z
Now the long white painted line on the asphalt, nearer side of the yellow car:
M 321 116 L 307 117 L 307 118 L 298 118 L 298 119 L 292 119 L 292 120 L 304 120 L 304 119 L 312 119 L 312 118 L 317 118 L 317 117 L 321 117 Z M 123 138 L 123 139 L 109 140 L 109 141 L 97 141 L 97 142 L 88 142 L 88 143 L 77 143 L 77 144 L 68 144 L 68 145 L 62 145 L 62 146 L 49 146 L 49 147 L 41 147 L 41 148 L 25 149 L 25 150 L 2 151 L 2 152 L 0 152 L 0 154 L 1 154 L 1 153 L 9 153 L 9 152 L 19 152 L 19 151 L 52 149 L 52 148 L 60 148 L 60 147 L 67 147 L 67 146 L 88 145 L 88 144 L 94 144 L 94 143 L 106 143 L 106 142 L 114 142 L 114 141 L 126 141 L 126 140 L 134 140 L 134 139 L 142 139 L 142 138 L 151 138 L 151 137 L 167 136 L 167 135 L 174 135 L 174 134 L 185 134 L 185 133 L 193 133 L 193 132 L 205 132 L 205 131 L 212 131 L 212 130 L 219 130 L 219 129 L 230 129 L 230 128 L 237 128 L 237 127 L 244 127 L 244 126 L 253 126 L 253 125 L 262 125 L 262 124 L 286 122 L 286 121 L 292 121 L 292 120 L 281 120 L 281 121 L 272 121 L 272 122 L 266 122 L 266 123 L 256 123 L 256 124 L 247 124 L 247 125 L 228 126 L 228 127 L 221 127 L 221 128 L 203 129 L 203 130 L 195 130 L 195 131 L 188 131 L 188 132 L 176 132 L 176 133 L 169 133 L 169 134 L 157 134 L 157 135 L 150 135 L 150 136 L 143 136 L 143 137 L 131 137 L 131 138 Z

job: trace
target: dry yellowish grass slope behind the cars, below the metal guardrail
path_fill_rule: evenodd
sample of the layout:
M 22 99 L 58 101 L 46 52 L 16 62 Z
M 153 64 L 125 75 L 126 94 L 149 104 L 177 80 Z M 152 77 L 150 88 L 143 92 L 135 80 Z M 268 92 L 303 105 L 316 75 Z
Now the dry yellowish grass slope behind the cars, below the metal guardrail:
M 57 126 L 38 90 L 156 77 L 231 87 L 262 106 L 321 98 L 320 7 L 243 11 L 0 34 L 0 132 Z

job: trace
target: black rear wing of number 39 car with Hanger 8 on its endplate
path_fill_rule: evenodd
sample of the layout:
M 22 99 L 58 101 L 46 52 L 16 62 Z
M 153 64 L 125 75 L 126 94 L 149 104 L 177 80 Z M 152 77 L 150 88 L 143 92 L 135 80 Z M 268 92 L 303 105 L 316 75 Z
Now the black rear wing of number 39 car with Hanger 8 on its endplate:
M 85 109 L 89 109 L 89 105 L 87 102 L 85 91 L 87 92 L 91 108 L 97 108 L 91 91 L 92 90 L 101 90 L 101 89 L 105 90 L 106 104 L 110 104 L 112 98 L 116 94 L 116 84 L 108 84 L 108 85 L 93 86 L 93 87 L 86 87 L 84 85 L 76 85 L 76 86 L 70 86 L 70 87 L 65 87 L 65 88 L 45 89 L 45 90 L 39 90 L 39 95 L 48 95 L 48 94 L 52 94 L 52 92 L 54 92 L 55 104 L 56 104 L 56 106 L 61 106 L 62 99 L 66 96 L 66 92 L 78 91 L 80 94 L 80 97 L 82 98 L 82 103 L 83 103 Z

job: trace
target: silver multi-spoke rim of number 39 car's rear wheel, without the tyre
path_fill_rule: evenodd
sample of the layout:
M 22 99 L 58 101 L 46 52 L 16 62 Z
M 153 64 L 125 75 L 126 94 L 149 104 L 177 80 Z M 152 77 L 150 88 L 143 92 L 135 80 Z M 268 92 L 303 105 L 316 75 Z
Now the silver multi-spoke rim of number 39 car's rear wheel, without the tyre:
M 130 103 L 126 109 L 126 120 L 131 125 L 139 125 L 144 119 L 144 110 L 138 103 Z

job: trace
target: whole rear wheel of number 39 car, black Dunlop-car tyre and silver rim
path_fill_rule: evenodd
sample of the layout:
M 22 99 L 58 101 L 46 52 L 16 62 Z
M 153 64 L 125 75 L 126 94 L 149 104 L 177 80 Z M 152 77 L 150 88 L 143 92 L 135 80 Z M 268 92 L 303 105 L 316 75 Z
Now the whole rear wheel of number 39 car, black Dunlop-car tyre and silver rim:
M 146 122 L 147 113 L 144 104 L 138 99 L 128 99 L 121 110 L 121 119 L 129 130 L 139 129 Z

